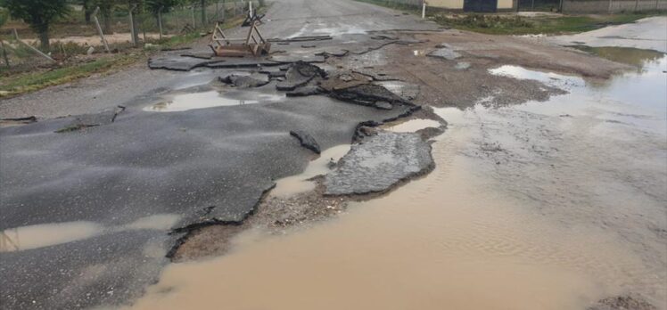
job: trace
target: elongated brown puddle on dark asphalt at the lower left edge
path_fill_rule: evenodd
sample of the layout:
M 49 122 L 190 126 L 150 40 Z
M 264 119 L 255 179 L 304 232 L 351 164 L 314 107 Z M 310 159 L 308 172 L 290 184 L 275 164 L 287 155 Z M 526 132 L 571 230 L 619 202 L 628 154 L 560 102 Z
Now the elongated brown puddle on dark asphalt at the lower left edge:
M 159 214 L 145 216 L 137 219 L 135 222 L 119 226 L 104 226 L 95 222 L 76 221 L 9 228 L 0 232 L 0 252 L 39 249 L 73 241 L 81 241 L 110 232 L 137 230 L 167 231 L 177 223 L 178 218 L 179 216 L 173 214 Z

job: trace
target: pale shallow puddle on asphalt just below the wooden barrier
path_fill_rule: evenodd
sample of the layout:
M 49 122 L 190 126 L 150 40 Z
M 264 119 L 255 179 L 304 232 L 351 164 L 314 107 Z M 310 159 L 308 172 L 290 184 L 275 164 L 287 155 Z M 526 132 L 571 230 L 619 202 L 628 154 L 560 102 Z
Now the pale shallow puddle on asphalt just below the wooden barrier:
M 154 103 L 145 107 L 144 110 L 150 112 L 177 112 L 254 103 L 280 102 L 284 98 L 284 94 L 263 94 L 254 91 L 238 90 L 209 90 L 199 93 L 169 95 L 165 98 L 165 101 Z

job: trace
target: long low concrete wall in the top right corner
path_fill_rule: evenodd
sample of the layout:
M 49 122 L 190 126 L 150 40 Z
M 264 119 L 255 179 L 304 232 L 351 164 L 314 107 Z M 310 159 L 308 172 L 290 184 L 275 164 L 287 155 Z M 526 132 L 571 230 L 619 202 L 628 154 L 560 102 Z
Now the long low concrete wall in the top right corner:
M 565 13 L 667 10 L 667 0 L 563 0 Z

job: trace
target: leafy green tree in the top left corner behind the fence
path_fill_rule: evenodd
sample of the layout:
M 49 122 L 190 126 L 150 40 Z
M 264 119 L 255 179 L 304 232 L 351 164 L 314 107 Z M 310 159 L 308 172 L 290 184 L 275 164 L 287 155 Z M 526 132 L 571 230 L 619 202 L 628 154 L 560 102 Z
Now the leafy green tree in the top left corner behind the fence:
M 49 47 L 49 29 L 54 20 L 70 12 L 67 0 L 4 0 L 12 17 L 30 25 L 39 35 L 43 49 Z

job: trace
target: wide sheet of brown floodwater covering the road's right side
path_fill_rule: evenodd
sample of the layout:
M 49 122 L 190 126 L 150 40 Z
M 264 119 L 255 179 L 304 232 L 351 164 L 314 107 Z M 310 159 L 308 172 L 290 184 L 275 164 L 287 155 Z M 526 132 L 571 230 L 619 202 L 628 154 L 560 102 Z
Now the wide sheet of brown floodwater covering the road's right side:
M 571 94 L 435 112 L 431 174 L 325 223 L 169 265 L 135 309 L 667 309 L 667 58 Z M 487 98 L 485 100 L 493 100 Z

